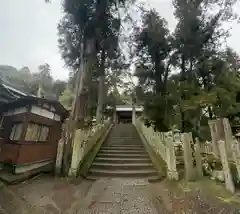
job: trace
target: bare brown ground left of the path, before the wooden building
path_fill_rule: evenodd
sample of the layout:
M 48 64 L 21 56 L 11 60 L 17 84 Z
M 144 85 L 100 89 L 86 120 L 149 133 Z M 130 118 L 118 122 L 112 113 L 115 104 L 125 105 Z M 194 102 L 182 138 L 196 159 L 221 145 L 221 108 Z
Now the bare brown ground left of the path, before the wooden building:
M 66 180 L 48 175 L 13 186 L 2 185 L 0 214 L 66 213 L 73 203 L 85 197 L 91 185 L 92 181 Z

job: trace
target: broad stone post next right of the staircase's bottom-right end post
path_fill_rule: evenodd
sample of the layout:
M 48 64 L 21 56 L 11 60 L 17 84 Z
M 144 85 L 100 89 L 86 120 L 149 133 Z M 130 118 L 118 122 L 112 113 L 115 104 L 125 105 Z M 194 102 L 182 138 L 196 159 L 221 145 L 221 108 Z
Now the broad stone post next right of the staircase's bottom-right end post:
M 187 181 L 195 180 L 195 169 L 193 166 L 193 150 L 191 143 L 193 143 L 192 133 L 182 134 L 183 142 L 183 155 L 184 155 L 184 168 L 185 168 L 185 179 Z

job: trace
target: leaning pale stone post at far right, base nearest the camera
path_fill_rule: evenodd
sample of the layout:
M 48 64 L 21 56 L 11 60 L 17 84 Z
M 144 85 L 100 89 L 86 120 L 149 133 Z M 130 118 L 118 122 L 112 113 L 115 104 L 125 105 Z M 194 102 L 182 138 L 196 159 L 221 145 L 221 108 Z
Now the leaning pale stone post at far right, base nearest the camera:
M 228 191 L 230 191 L 231 193 L 234 193 L 235 186 L 233 183 L 232 174 L 231 174 L 229 163 L 228 163 L 225 142 L 223 140 L 218 141 L 218 148 L 219 148 L 219 153 L 220 153 L 220 158 L 221 158 L 221 163 L 222 163 L 223 173 L 225 178 L 225 187 Z

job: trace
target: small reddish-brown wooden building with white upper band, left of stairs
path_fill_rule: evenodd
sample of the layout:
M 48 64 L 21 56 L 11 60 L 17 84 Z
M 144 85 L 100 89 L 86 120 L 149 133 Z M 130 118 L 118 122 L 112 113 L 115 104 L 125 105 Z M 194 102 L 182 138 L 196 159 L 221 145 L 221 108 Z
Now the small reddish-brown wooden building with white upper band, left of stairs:
M 68 117 L 58 101 L 25 96 L 3 104 L 0 111 L 4 171 L 19 174 L 55 163 L 61 125 Z

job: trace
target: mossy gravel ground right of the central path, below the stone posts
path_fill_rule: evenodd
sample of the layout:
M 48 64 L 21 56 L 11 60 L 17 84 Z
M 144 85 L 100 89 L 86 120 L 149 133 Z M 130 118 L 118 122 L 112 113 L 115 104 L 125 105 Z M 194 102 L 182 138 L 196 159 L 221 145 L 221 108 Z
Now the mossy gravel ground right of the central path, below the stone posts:
M 222 185 L 212 181 L 195 183 L 162 182 L 152 184 L 151 192 L 155 198 L 158 213 L 162 206 L 166 213 L 240 213 L 240 197 L 224 190 Z

